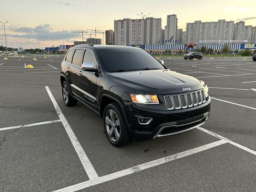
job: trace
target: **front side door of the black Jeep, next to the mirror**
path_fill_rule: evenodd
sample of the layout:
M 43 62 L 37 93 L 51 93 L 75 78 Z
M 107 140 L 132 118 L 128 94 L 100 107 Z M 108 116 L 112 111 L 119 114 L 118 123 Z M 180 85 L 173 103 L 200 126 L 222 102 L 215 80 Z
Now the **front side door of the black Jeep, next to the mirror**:
M 98 69 L 98 64 L 96 61 L 96 57 L 92 50 L 86 49 L 83 57 L 83 62 L 92 62 L 94 63 L 95 69 Z M 97 75 L 95 72 L 80 70 L 78 71 L 78 87 L 80 90 L 79 97 L 83 99 L 92 109 L 98 111 L 97 109 L 97 97 L 96 97 L 96 89 L 97 89 Z

